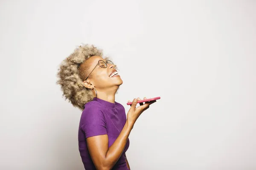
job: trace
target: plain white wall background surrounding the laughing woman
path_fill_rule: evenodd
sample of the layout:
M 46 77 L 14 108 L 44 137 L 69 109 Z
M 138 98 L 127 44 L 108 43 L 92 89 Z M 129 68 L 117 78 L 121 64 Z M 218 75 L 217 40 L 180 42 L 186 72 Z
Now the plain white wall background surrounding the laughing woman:
M 116 101 L 161 99 L 136 122 L 131 170 L 256 169 L 256 1 L 1 0 L 0 169 L 82 170 L 81 111 L 57 68 L 111 56 Z

